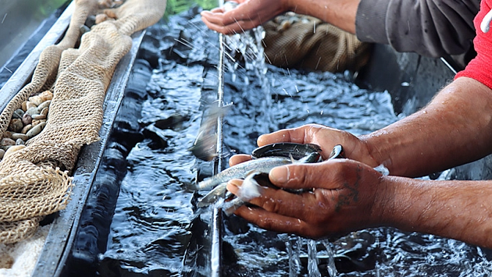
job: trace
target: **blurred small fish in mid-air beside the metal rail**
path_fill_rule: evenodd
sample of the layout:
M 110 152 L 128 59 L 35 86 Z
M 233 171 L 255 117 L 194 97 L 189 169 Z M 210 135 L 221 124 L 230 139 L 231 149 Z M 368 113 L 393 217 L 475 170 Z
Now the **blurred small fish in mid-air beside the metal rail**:
M 200 160 L 207 162 L 217 157 L 217 123 L 220 116 L 224 116 L 229 110 L 227 106 L 215 106 L 211 105 L 204 112 L 202 119 L 202 125 L 199 128 L 197 138 L 193 145 L 188 148 L 188 151 Z

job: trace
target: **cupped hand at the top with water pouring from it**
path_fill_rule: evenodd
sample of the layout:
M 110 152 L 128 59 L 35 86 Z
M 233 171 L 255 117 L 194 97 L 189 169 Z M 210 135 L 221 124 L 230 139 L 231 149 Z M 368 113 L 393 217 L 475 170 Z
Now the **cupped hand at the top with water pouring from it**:
M 215 8 L 202 12 L 202 21 L 214 31 L 225 35 L 243 33 L 268 22 L 276 15 L 288 10 L 287 1 L 282 0 L 238 0 L 232 10 Z

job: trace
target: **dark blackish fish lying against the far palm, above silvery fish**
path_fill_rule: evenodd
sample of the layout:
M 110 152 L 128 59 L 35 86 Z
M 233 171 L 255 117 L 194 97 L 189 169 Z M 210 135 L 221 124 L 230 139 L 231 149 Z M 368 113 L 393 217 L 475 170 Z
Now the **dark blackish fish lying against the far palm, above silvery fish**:
M 295 160 L 300 160 L 308 156 L 311 153 L 321 152 L 321 147 L 318 144 L 300 144 L 295 142 L 279 142 L 273 144 L 267 144 L 252 152 L 253 158 L 263 157 L 292 157 Z

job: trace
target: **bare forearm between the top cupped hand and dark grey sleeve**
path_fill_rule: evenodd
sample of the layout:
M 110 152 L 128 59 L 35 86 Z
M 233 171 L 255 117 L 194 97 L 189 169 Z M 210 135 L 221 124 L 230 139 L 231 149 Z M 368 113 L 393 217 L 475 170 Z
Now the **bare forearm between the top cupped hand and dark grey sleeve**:
M 311 15 L 355 33 L 355 16 L 361 0 L 287 0 L 288 9 L 302 15 Z

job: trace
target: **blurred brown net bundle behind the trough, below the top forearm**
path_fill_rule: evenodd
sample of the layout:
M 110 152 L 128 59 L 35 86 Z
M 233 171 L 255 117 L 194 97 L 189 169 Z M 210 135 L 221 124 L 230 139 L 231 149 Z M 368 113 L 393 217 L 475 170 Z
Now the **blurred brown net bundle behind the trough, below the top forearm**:
M 278 67 L 344 72 L 369 60 L 370 44 L 315 17 L 287 12 L 263 28 L 265 56 Z

